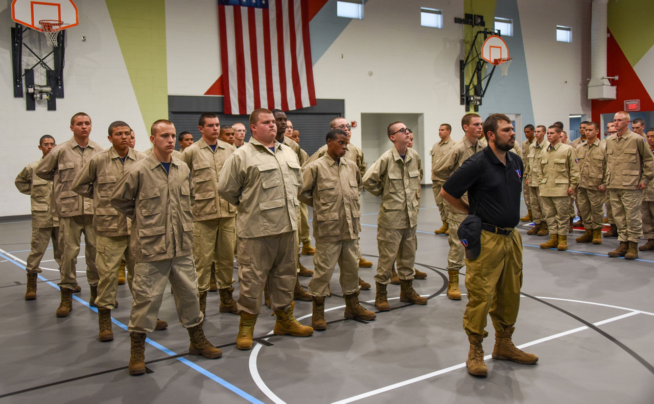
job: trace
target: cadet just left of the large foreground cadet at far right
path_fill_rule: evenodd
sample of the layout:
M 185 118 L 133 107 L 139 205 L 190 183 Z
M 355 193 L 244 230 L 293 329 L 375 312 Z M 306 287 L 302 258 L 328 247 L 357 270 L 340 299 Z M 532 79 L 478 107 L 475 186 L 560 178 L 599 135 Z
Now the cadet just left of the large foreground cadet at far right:
M 606 192 L 600 191 L 604 180 L 606 160 L 604 160 L 604 143 L 597 136 L 600 126 L 596 122 L 585 124 L 583 143 L 577 144 L 579 159 L 579 187 L 577 202 L 585 232 L 577 237 L 577 243 L 602 244 L 602 227 L 604 227 L 604 198 Z

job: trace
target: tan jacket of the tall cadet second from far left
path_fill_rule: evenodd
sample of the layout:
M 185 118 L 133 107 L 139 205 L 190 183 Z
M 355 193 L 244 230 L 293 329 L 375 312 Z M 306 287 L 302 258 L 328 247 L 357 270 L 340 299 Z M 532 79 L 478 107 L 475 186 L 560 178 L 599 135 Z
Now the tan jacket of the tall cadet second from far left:
M 44 180 L 54 180 L 52 188 L 54 216 L 67 218 L 94 214 L 93 199 L 77 194 L 73 191 L 72 185 L 82 167 L 102 150 L 105 149 L 91 140 L 82 150 L 73 137 L 50 150 L 50 153 L 41 160 L 37 175 Z

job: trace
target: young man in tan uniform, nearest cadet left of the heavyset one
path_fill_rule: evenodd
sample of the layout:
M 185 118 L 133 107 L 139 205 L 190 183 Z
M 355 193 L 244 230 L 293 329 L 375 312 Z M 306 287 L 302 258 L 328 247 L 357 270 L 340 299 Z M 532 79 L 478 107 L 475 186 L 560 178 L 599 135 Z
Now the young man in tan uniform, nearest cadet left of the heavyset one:
M 175 293 L 180 324 L 188 329 L 192 355 L 220 358 L 222 352 L 205 338 L 198 276 L 191 256 L 193 184 L 186 164 L 171 156 L 175 126 L 158 120 L 150 128 L 154 150 L 122 177 L 109 196 L 111 205 L 133 220 L 130 240 L 136 265 L 129 314 L 129 374 L 145 373 L 145 337 L 157 324 L 168 280 Z

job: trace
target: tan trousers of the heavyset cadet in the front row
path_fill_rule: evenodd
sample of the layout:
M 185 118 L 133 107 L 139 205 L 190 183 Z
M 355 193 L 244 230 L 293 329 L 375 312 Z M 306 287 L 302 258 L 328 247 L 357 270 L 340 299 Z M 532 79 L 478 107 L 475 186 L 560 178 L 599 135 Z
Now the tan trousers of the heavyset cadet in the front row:
M 298 276 L 297 258 L 297 231 L 252 239 L 239 237 L 236 246 L 240 292 L 236 301 L 238 309 L 259 314 L 266 282 L 273 310 L 290 305 Z

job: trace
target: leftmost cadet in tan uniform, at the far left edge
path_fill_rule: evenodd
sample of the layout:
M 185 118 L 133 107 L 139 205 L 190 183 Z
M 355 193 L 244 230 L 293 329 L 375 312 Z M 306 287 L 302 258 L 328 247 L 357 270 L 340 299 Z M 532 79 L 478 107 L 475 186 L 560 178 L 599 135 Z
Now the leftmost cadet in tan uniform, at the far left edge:
M 29 195 L 32 212 L 31 250 L 27 256 L 27 291 L 26 300 L 37 298 L 37 277 L 41 273 L 41 259 L 48 243 L 52 239 L 54 260 L 61 265 L 61 248 L 59 247 L 59 220 L 52 216 L 52 181 L 37 177 L 36 169 L 43 158 L 56 146 L 54 137 L 43 135 L 39 139 L 39 150 L 43 156 L 38 161 L 29 163 L 17 176 L 14 184 L 23 194 Z

